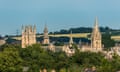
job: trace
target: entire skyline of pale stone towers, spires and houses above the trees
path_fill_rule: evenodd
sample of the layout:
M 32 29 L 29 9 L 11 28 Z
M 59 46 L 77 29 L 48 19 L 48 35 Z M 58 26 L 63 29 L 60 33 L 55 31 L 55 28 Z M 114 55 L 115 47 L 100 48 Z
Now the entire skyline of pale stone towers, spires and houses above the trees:
M 45 25 L 42 48 L 51 50 L 53 52 L 64 51 L 68 56 L 72 56 L 75 53 L 74 41 L 72 37 L 72 31 L 70 32 L 69 42 L 63 46 L 56 46 L 54 42 L 51 42 L 49 39 L 48 28 Z M 95 24 L 93 31 L 91 33 L 91 43 L 82 44 L 80 41 L 79 44 L 76 44 L 78 50 L 80 51 L 90 51 L 90 52 L 103 52 L 106 54 L 106 58 L 111 58 L 114 53 L 120 56 L 120 45 L 116 44 L 109 52 L 103 50 L 104 45 L 102 44 L 102 35 L 99 30 L 98 20 L 95 19 Z M 21 47 L 26 48 L 27 46 L 38 43 L 36 40 L 36 26 L 22 26 L 22 36 L 21 36 Z M 0 45 L 5 44 L 5 39 L 0 39 Z

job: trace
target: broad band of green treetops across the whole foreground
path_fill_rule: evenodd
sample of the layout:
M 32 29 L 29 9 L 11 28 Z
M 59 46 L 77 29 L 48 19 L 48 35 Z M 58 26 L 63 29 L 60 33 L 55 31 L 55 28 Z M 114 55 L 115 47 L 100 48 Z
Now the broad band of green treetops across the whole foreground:
M 73 45 L 76 49 L 76 45 Z M 0 52 L 0 72 L 22 72 L 23 67 L 29 67 L 28 72 L 39 72 L 41 69 L 57 72 L 83 72 L 85 68 L 96 67 L 97 72 L 116 72 L 120 70 L 120 57 L 112 60 L 104 58 L 102 53 L 79 52 L 68 57 L 64 52 L 52 52 L 42 49 L 39 44 L 20 48 L 5 45 Z

